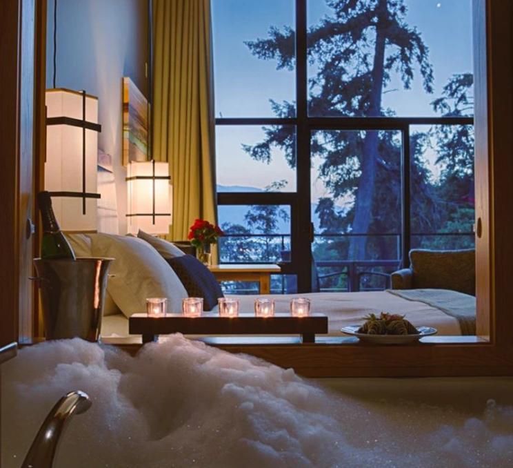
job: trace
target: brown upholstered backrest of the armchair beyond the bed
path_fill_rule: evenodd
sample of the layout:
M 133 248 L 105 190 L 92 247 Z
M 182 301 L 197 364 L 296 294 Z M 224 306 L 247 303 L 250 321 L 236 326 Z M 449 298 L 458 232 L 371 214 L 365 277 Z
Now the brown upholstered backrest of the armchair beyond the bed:
M 450 289 L 476 295 L 474 249 L 432 251 L 412 249 L 410 262 L 414 289 Z

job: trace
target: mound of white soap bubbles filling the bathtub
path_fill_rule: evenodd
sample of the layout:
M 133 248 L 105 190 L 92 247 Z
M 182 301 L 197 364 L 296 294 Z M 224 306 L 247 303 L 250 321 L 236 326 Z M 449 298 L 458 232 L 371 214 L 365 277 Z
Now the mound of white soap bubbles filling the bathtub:
M 54 402 L 74 389 L 93 404 L 72 418 L 58 468 L 512 463 L 512 407 L 485 399 L 469 415 L 433 402 L 362 400 L 343 380 L 339 387 L 181 335 L 136 357 L 79 339 L 46 342 L 3 366 L 2 466 L 19 467 Z

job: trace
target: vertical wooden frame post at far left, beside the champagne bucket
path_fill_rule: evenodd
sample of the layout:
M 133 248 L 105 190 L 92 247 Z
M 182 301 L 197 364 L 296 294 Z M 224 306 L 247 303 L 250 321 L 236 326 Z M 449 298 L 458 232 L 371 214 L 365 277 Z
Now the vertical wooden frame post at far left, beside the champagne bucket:
M 44 26 L 46 0 L 0 2 L 0 346 L 33 337 L 28 276 L 34 248 L 28 220 L 35 223 L 37 214 L 32 195 L 40 170 L 34 167 L 34 153 L 39 153 L 36 142 L 42 141 L 45 124 Z

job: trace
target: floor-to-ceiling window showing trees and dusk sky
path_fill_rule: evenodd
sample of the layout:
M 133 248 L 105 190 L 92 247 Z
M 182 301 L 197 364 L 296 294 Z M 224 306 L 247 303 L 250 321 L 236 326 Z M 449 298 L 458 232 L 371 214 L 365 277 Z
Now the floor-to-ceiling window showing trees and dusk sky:
M 361 291 L 474 245 L 471 7 L 212 0 L 221 262 Z

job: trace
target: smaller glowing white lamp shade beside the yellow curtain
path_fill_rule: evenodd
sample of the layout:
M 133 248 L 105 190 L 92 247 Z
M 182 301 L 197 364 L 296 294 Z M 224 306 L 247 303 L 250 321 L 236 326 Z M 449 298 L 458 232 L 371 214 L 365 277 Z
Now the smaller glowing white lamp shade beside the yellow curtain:
M 172 220 L 172 186 L 167 162 L 130 162 L 127 177 L 128 232 L 167 234 Z

